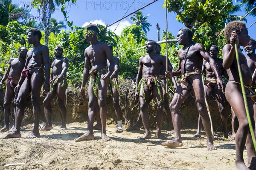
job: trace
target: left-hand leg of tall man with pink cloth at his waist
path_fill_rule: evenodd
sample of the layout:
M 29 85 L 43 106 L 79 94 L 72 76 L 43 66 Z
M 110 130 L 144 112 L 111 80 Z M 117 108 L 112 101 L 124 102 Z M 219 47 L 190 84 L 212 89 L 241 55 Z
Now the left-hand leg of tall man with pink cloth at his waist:
M 15 105 L 16 105 L 16 112 L 15 112 L 15 127 L 14 130 L 6 135 L 5 138 L 20 138 L 20 125 L 24 116 L 25 112 L 25 102 L 26 99 L 29 97 L 30 92 L 30 85 L 26 82 L 26 80 L 23 82 L 23 84 L 20 87 Z

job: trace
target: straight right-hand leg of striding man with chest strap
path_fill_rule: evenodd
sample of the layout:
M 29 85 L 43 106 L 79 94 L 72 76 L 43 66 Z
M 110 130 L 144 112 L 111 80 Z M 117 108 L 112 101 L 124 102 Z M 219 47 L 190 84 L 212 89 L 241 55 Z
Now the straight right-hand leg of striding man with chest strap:
M 201 74 L 195 75 L 192 86 L 193 86 L 192 92 L 195 96 L 195 103 L 196 103 L 198 112 L 202 117 L 202 124 L 204 126 L 204 130 L 207 135 L 207 150 L 216 150 L 216 147 L 213 146 L 213 141 L 212 141 L 210 118 L 207 113 L 207 108 L 205 104 L 204 90 L 202 90 L 204 89 L 204 86 L 203 86 Z

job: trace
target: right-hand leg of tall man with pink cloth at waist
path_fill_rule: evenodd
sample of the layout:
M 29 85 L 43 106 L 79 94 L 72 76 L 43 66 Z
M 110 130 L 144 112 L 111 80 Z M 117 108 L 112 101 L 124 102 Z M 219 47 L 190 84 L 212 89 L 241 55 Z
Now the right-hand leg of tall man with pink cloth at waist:
M 43 83 L 44 83 L 44 71 L 42 69 L 35 70 L 35 72 L 31 75 L 31 84 L 30 84 L 31 101 L 33 105 L 35 126 L 34 126 L 34 129 L 32 130 L 32 133 L 30 133 L 25 137 L 26 139 L 32 139 L 40 136 L 40 133 L 39 133 L 39 121 L 41 117 L 40 92 L 41 92 Z

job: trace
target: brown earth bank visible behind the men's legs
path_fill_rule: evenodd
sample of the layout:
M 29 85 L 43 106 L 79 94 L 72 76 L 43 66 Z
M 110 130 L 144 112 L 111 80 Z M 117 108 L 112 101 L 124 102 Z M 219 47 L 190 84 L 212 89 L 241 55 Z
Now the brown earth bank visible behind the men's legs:
M 131 80 L 120 81 L 119 89 L 121 91 L 120 95 L 120 106 L 123 112 L 123 122 L 125 124 L 134 124 L 137 121 L 138 114 L 140 112 L 140 104 L 138 100 L 134 97 L 135 89 L 134 82 Z M 0 122 L 3 126 L 3 98 L 4 92 L 0 92 Z M 45 121 L 44 117 L 44 107 L 43 107 L 44 97 L 41 97 L 41 121 Z M 218 105 L 215 102 L 215 98 L 210 98 L 208 101 L 209 109 L 212 115 L 212 122 L 214 124 L 214 129 L 221 131 L 221 119 L 218 112 Z M 79 96 L 79 89 L 67 89 L 67 123 L 70 122 L 83 122 L 87 121 L 88 112 L 88 95 L 87 92 L 84 97 Z M 26 101 L 25 116 L 23 119 L 23 124 L 33 123 L 33 109 L 30 98 Z M 108 124 L 116 123 L 116 115 L 112 105 L 111 95 L 107 98 L 107 109 L 108 109 Z M 13 109 L 12 109 L 13 111 Z M 148 108 L 150 114 L 150 126 L 154 129 L 156 127 L 156 107 L 155 102 L 151 101 L 151 105 Z M 229 115 L 228 128 L 231 130 L 231 110 L 230 105 L 225 100 L 225 113 Z M 186 99 L 186 101 L 180 107 L 181 114 L 181 128 L 196 128 L 198 120 L 198 110 L 195 106 L 195 99 L 192 95 Z M 59 108 L 57 100 L 52 101 L 52 121 L 61 121 L 59 114 Z M 166 121 L 163 123 L 163 128 L 166 128 Z

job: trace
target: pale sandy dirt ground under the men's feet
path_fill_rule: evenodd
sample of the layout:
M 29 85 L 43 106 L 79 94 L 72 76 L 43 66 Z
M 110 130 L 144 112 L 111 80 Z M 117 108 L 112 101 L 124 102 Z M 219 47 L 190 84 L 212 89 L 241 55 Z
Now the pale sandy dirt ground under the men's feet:
M 0 140 L 0 169 L 7 170 L 98 170 L 98 169 L 183 169 L 183 170 L 229 170 L 234 169 L 235 141 L 225 141 L 221 133 L 215 134 L 217 150 L 207 151 L 206 136 L 194 138 L 195 129 L 182 130 L 183 147 L 168 148 L 163 140 L 152 137 L 145 141 L 139 138 L 140 131 L 116 133 L 116 125 L 107 125 L 111 141 L 103 142 L 100 131 L 95 130 L 96 139 L 73 141 L 82 135 L 86 123 L 67 124 L 67 130 L 58 131 L 58 122 L 50 131 L 41 131 L 35 139 L 13 138 Z M 21 131 L 25 137 L 32 125 Z M 128 127 L 124 126 L 124 129 Z M 0 133 L 4 137 L 7 133 Z M 167 135 L 169 139 L 173 135 Z M 152 136 L 155 131 L 152 131 Z M 247 161 L 244 150 L 244 161 Z M 16 164 L 16 165 L 12 165 Z

